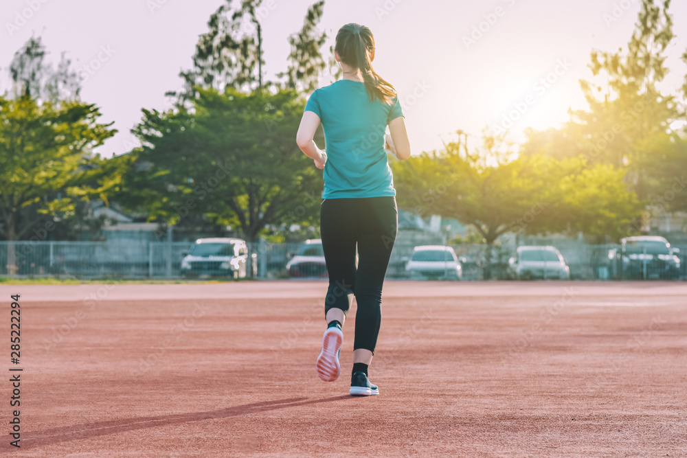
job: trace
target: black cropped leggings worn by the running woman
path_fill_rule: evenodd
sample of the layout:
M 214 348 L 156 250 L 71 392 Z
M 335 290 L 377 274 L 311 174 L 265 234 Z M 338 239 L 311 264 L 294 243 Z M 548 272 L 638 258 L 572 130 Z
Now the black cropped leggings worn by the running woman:
M 358 311 L 353 349 L 374 354 L 381 323 L 382 285 L 398 232 L 396 198 L 325 199 L 320 230 L 329 272 L 325 316 L 332 308 L 347 314 L 351 295 L 355 295 Z

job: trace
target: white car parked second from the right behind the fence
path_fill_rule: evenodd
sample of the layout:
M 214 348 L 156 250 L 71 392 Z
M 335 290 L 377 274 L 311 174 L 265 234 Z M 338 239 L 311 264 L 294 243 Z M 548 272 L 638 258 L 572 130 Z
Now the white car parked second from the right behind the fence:
M 556 247 L 517 247 L 508 261 L 510 278 L 570 279 L 570 267 Z

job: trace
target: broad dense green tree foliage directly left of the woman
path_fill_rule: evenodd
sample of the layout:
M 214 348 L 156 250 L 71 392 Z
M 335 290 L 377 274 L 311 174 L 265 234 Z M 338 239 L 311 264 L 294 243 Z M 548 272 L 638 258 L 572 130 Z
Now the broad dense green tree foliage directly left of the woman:
M 198 93 L 192 115 L 144 111 L 134 130 L 143 147 L 123 188 L 130 202 L 170 225 L 193 215 L 236 225 L 251 242 L 267 225 L 313 220 L 321 178 L 293 140 L 297 93 Z

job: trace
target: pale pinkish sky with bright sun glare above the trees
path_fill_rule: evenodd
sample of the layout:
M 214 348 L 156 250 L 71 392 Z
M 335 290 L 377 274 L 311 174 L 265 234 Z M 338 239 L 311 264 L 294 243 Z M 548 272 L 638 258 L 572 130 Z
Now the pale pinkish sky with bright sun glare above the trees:
M 41 36 L 48 59 L 65 52 L 87 76 L 82 100 L 101 108 L 118 133 L 96 151 L 104 157 L 137 146 L 131 128 L 142 108 L 170 108 L 165 92 L 181 88 L 198 36 L 225 0 L 3 0 L 0 92 L 14 53 Z M 286 68 L 289 35 L 314 0 L 264 0 L 263 78 Z M 333 43 L 341 25 L 367 25 L 376 42 L 373 67 L 394 84 L 413 154 L 440 149 L 457 130 L 485 127 L 514 141 L 523 130 L 560 126 L 569 108 L 587 107 L 579 80 L 592 77 L 592 49 L 625 47 L 640 0 L 326 0 L 319 24 Z M 687 74 L 687 1 L 673 1 L 674 32 L 662 89 L 677 93 Z M 328 52 L 330 43 L 324 51 Z M 322 84 L 331 81 L 323 79 Z M 294 133 L 295 141 L 295 133 Z M 324 148 L 324 145 L 321 145 Z

